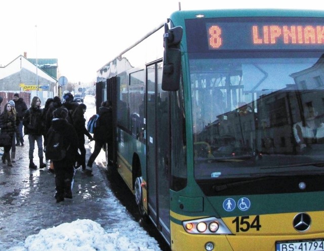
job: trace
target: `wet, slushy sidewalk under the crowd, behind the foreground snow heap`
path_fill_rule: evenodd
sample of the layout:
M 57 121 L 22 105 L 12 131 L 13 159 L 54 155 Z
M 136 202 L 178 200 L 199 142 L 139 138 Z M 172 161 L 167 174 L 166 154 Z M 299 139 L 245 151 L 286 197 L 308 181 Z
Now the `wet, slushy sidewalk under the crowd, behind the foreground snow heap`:
M 13 167 L 0 164 L 0 250 L 21 245 L 27 236 L 41 229 L 77 219 L 96 221 L 103 228 L 118 225 L 117 217 L 111 213 L 116 209 L 111 202 L 107 203 L 113 195 L 107 189 L 105 167 L 100 161 L 102 153 L 96 159 L 100 167 L 93 165 L 94 176 L 76 170 L 73 199 L 56 203 L 54 174 L 47 171 L 48 167 L 29 169 L 27 135 L 24 140 L 24 147 L 16 147 Z M 94 141 L 89 142 L 86 137 L 87 161 L 93 145 Z M 35 147 L 34 163 L 39 167 L 37 151 Z

